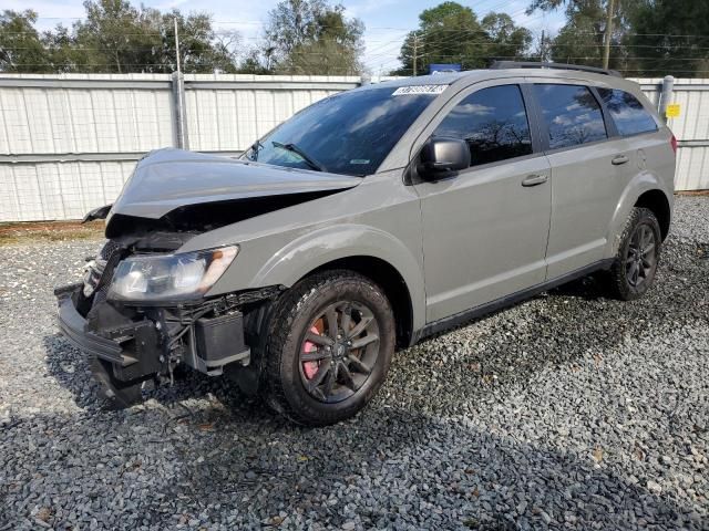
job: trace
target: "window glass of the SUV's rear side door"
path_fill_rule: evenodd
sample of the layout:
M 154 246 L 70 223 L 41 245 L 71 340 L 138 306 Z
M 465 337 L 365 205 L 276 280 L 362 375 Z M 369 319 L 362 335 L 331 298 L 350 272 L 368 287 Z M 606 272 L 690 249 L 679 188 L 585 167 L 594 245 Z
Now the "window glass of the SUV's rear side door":
M 548 131 L 549 149 L 608 137 L 600 105 L 587 86 L 537 84 L 534 92 Z

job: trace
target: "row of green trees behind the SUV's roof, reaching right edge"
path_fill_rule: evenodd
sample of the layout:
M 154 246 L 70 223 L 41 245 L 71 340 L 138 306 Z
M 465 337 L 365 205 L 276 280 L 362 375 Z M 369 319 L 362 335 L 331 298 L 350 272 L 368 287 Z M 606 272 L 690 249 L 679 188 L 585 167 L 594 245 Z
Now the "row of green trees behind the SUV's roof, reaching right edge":
M 565 14 L 556 35 L 533 35 L 508 14 L 479 20 L 471 8 L 443 2 L 419 15 L 395 73 L 411 75 L 428 63 L 484 67 L 493 60 L 603 66 L 610 20 L 609 67 L 627 76 L 709 77 L 708 0 L 532 0 L 526 13 L 556 10 Z

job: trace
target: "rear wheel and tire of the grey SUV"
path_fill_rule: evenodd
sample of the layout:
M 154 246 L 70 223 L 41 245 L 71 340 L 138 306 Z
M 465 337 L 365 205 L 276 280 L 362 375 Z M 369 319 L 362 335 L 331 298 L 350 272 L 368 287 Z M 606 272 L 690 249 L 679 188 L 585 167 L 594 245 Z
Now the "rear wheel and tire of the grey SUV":
M 662 235 L 651 210 L 634 208 L 620 236 L 610 267 L 610 291 L 621 301 L 643 296 L 653 285 L 660 258 Z

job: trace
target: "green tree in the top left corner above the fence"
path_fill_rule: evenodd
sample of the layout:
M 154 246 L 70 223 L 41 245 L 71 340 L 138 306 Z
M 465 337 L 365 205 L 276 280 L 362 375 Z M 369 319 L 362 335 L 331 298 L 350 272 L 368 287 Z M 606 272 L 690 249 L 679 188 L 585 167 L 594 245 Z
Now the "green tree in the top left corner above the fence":
M 37 13 L 6 10 L 0 15 L 0 71 L 52 72 L 41 35 L 34 29 Z

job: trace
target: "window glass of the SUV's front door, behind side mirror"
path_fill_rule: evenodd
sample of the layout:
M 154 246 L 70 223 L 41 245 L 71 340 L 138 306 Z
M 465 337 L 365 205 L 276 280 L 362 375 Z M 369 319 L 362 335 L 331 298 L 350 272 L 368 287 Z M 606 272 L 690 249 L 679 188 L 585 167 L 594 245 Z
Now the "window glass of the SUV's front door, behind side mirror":
M 433 133 L 467 143 L 471 166 L 530 155 L 530 123 L 517 85 L 482 88 L 463 98 Z

